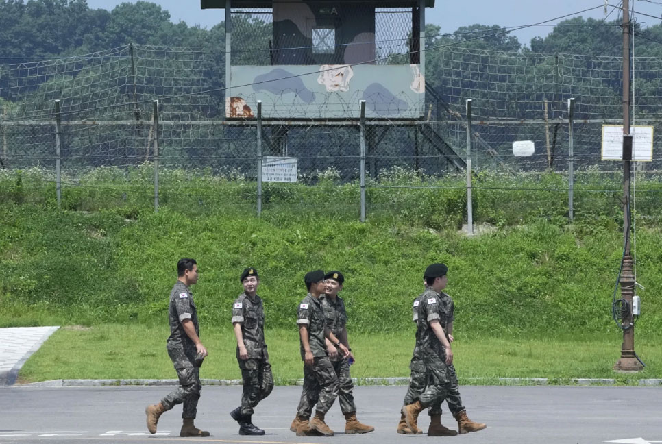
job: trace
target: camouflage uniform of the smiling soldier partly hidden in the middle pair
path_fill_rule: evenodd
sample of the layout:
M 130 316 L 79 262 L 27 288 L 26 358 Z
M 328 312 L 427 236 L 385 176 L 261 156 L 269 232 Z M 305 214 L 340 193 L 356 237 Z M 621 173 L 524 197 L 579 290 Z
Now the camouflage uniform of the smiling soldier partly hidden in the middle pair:
M 326 319 L 326 326 L 331 332 L 340 338 L 347 326 L 347 310 L 345 310 L 345 301 L 340 296 L 336 296 L 336 301 L 328 296 L 321 299 L 322 308 L 324 309 L 324 317 Z M 350 361 L 338 353 L 335 358 L 331 358 L 331 365 L 333 366 L 336 375 L 338 376 L 338 400 L 340 408 L 344 415 L 348 413 L 356 413 L 356 404 L 354 404 L 354 393 L 352 390 L 354 384 L 352 377 L 350 377 Z

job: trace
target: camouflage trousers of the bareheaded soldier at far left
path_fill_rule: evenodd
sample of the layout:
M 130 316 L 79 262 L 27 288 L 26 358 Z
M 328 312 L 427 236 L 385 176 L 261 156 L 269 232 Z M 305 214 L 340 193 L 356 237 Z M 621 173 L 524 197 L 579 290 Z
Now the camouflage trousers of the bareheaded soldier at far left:
M 195 352 L 194 352 L 195 354 Z M 189 356 L 183 349 L 168 349 L 168 356 L 173 361 L 180 386 L 161 399 L 161 404 L 170 410 L 177 404 L 184 403 L 182 418 L 195 418 L 197 402 L 200 399 L 200 369 L 195 365 L 194 357 Z

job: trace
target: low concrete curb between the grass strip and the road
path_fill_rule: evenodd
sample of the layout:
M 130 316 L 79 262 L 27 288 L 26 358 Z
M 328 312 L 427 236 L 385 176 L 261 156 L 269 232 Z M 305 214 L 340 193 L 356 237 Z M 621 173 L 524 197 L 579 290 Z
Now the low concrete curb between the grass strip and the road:
M 352 378 L 357 385 L 406 385 L 409 378 Z M 471 382 L 485 382 L 482 385 L 563 385 L 563 386 L 617 386 L 622 385 L 622 381 L 610 378 L 572 378 L 568 380 L 555 380 L 550 378 L 469 378 Z M 206 386 L 241 386 L 241 380 L 201 380 L 202 385 Z M 636 382 L 638 386 L 662 386 L 662 379 L 642 379 L 626 380 L 626 384 Z M 303 380 L 297 380 L 295 384 L 302 385 Z M 42 382 L 32 382 L 30 384 L 21 384 L 19 387 L 104 387 L 104 386 L 177 386 L 178 380 L 147 380 L 147 379 L 116 379 L 116 380 L 50 380 Z

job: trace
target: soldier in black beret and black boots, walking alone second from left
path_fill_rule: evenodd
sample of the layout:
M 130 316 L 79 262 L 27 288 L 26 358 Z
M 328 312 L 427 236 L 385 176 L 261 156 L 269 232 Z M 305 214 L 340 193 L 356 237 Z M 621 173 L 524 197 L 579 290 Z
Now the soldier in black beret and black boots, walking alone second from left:
M 236 358 L 241 369 L 243 393 L 241 406 L 230 412 L 239 423 L 241 435 L 263 435 L 265 431 L 252 423 L 253 408 L 269 396 L 273 389 L 273 375 L 265 343 L 265 310 L 257 295 L 260 278 L 252 267 L 239 277 L 244 287 L 232 306 L 232 324 L 236 336 Z

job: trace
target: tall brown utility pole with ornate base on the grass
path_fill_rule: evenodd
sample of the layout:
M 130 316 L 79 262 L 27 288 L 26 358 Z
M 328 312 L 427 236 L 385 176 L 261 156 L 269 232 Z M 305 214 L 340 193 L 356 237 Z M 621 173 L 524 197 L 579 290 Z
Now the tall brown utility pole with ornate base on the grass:
M 635 275 L 630 254 L 630 169 L 632 162 L 632 136 L 630 135 L 630 4 L 623 0 L 623 236 L 624 256 L 621 270 L 621 299 L 623 344 L 621 358 L 614 365 L 616 371 L 639 371 L 643 365 L 635 354 L 635 325 L 632 297 L 635 294 Z

